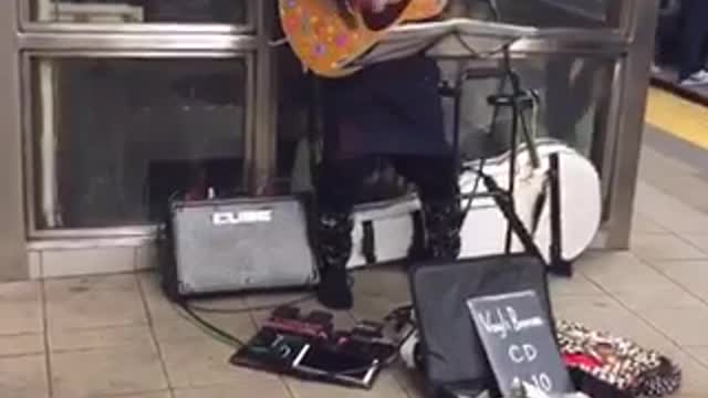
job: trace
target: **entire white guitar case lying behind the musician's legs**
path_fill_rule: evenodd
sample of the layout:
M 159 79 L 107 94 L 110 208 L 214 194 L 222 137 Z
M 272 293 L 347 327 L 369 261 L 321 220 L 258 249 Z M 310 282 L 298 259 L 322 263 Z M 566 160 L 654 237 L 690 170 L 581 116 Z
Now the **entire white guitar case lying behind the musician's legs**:
M 533 170 L 523 166 L 517 175 L 516 212 L 549 264 L 570 262 L 587 249 L 600 228 L 600 179 L 587 159 L 560 142 L 539 139 L 537 151 L 541 167 Z M 527 165 L 527 157 L 528 151 L 520 148 L 517 164 Z M 485 184 L 477 182 L 478 169 L 477 161 L 465 164 L 459 178 L 462 195 L 475 189 L 481 195 L 487 191 Z M 489 159 L 483 166 L 485 174 L 501 188 L 508 187 L 508 155 Z M 555 180 L 551 178 L 553 172 Z M 461 199 L 461 206 L 468 212 L 460 232 L 460 258 L 504 253 L 507 218 L 494 200 L 480 197 L 470 203 Z M 419 210 L 415 195 L 357 206 L 347 268 L 405 261 L 414 231 L 421 228 Z M 512 237 L 510 251 L 523 250 L 523 242 Z

